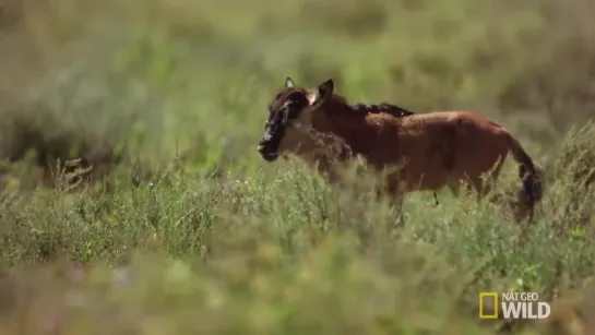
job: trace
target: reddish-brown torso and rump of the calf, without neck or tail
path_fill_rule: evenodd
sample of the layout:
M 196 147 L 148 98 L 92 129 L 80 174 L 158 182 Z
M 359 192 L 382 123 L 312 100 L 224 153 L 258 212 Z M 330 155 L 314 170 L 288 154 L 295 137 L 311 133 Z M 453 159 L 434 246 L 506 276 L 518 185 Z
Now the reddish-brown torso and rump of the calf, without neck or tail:
M 401 176 L 409 189 L 436 189 L 448 180 L 479 175 L 508 153 L 508 131 L 468 111 L 437 111 L 392 119 L 372 115 L 367 121 L 380 129 L 374 144 L 383 147 L 377 154 L 380 160 L 405 159 Z

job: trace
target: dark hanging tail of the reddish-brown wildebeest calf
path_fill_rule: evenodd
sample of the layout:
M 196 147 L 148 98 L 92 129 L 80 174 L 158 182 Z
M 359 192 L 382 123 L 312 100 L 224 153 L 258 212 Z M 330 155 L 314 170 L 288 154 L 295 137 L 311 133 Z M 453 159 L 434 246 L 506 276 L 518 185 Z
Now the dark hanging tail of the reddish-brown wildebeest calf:
M 519 163 L 519 178 L 523 180 L 523 194 L 531 210 L 544 194 L 544 180 L 542 171 L 535 166 L 521 143 L 510 135 L 510 151 L 512 157 Z

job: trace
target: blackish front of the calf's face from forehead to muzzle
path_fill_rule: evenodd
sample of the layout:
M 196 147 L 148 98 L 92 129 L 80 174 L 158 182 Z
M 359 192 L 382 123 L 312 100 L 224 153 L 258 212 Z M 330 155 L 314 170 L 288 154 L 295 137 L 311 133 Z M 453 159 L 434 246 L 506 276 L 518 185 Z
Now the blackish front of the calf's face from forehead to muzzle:
M 264 160 L 273 161 L 278 158 L 278 148 L 287 127 L 307 106 L 306 92 L 299 88 L 288 87 L 275 96 L 269 106 L 269 120 L 264 124 L 264 133 L 259 142 L 259 153 Z

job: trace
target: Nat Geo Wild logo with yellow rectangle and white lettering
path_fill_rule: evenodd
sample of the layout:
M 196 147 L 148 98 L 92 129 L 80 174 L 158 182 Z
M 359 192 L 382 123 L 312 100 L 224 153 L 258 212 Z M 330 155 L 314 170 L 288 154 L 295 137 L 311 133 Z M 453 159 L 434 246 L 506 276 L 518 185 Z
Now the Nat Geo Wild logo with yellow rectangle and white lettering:
M 479 319 L 547 319 L 549 313 L 549 303 L 536 292 L 479 294 Z

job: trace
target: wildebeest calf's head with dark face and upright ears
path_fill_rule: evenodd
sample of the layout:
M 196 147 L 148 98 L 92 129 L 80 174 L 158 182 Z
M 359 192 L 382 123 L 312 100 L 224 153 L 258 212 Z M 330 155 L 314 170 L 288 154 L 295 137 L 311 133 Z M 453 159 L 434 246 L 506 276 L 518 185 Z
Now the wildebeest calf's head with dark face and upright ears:
M 313 89 L 297 87 L 290 77 L 269 106 L 269 120 L 259 142 L 259 153 L 267 161 L 284 152 L 297 153 L 311 143 L 312 116 L 333 95 L 334 84 L 328 80 Z

